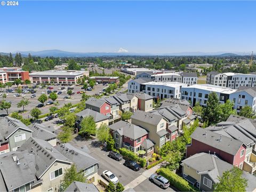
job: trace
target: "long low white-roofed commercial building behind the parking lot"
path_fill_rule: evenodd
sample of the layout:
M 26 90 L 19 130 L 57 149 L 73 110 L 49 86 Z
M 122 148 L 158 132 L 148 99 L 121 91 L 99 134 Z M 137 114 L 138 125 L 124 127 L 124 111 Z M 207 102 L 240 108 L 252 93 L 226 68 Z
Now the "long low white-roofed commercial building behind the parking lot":
M 47 70 L 37 71 L 29 74 L 30 81 L 33 83 L 60 83 L 76 84 L 77 79 L 89 76 L 89 71 L 76 70 Z

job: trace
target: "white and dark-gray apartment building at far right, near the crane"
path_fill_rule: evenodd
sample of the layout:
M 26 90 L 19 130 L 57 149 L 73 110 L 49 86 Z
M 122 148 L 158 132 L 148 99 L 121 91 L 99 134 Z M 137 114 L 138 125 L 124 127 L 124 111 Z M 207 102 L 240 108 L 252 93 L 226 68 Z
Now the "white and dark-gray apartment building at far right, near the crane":
M 256 75 L 212 71 L 207 74 L 206 83 L 231 89 L 238 89 L 239 86 L 256 87 Z

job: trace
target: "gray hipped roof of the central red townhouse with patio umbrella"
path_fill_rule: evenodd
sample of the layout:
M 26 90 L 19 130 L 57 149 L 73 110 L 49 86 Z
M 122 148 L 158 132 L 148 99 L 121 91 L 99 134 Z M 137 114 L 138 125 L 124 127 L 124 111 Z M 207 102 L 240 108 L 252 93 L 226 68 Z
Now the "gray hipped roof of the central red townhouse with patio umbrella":
M 131 139 L 138 139 L 148 132 L 140 126 L 125 122 L 119 121 L 109 126 L 111 130 L 118 131 L 119 134 L 124 135 L 125 137 Z

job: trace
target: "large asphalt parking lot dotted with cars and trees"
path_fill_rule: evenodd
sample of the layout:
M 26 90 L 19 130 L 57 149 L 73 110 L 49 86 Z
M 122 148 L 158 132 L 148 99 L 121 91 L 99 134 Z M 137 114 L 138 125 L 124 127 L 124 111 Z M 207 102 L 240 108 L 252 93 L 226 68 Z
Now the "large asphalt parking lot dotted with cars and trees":
M 69 99 L 69 95 L 67 93 L 64 93 L 65 90 L 60 90 L 59 88 L 62 87 L 61 85 L 60 86 L 57 86 L 57 85 L 51 85 L 51 87 L 53 87 L 53 89 L 51 90 L 52 92 L 53 91 L 61 91 L 62 93 L 61 94 L 58 94 L 58 99 L 56 101 L 59 102 L 60 106 L 59 107 L 62 107 L 65 103 L 68 103 L 68 102 L 71 102 L 72 104 L 75 104 L 75 103 L 78 103 L 81 98 L 82 98 L 82 94 L 79 94 L 77 93 L 78 91 L 84 91 L 82 88 L 82 86 L 76 86 L 76 85 L 72 85 L 70 87 L 74 87 L 74 92 L 75 94 L 74 95 L 71 95 L 71 99 Z M 94 95 L 96 93 L 99 93 L 100 91 L 102 91 L 105 87 L 107 87 L 106 85 L 102 85 L 102 84 L 98 84 L 98 85 L 95 85 L 93 90 L 92 91 L 86 91 L 86 94 L 87 95 Z M 12 86 L 10 87 L 10 89 L 12 88 L 16 88 L 17 89 L 17 86 Z M 7 89 L 7 87 L 6 87 Z M 31 109 L 33 109 L 34 107 L 36 107 L 40 102 L 37 100 L 38 97 L 40 97 L 40 95 L 42 94 L 42 92 L 45 92 L 47 94 L 47 89 L 45 87 L 45 89 L 39 89 L 39 88 L 36 88 L 34 89 L 36 91 L 36 93 L 34 93 L 36 95 L 35 98 L 31 98 L 31 93 L 21 93 L 21 94 L 25 94 L 25 98 L 29 99 L 30 103 L 28 106 L 25 107 L 25 113 L 21 113 L 21 115 L 25 118 L 28 118 L 30 115 L 30 111 Z M 5 93 L 5 89 L 2 90 L 2 94 Z M 18 108 L 17 107 L 17 103 L 20 102 L 20 100 L 22 99 L 21 97 L 13 97 L 15 93 L 6 93 L 8 94 L 7 97 L 6 97 L 6 101 L 11 101 L 11 108 L 8 110 L 9 114 L 14 112 L 14 111 L 19 111 L 19 110 L 22 110 L 22 108 Z M 49 96 L 49 94 L 47 94 Z M 65 96 L 68 97 L 68 99 L 63 99 Z M 1 98 L 2 96 L 0 96 Z M 49 108 L 51 107 L 52 105 L 49 105 L 49 106 L 44 106 L 44 107 L 41 107 L 39 108 L 41 111 L 42 111 L 42 114 L 45 114 L 45 113 L 49 113 Z M 6 114 L 6 111 L 5 110 L 0 110 L 0 115 L 5 115 Z M 31 117 L 31 116 L 30 116 Z

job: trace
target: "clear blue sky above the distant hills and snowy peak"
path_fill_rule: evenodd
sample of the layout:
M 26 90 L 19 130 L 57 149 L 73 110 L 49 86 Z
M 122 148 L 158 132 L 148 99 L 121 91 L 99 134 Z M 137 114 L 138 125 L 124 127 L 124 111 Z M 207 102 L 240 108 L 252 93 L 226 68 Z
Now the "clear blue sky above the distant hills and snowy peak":
M 0 52 L 256 51 L 256 1 L 19 1 L 0 6 Z

